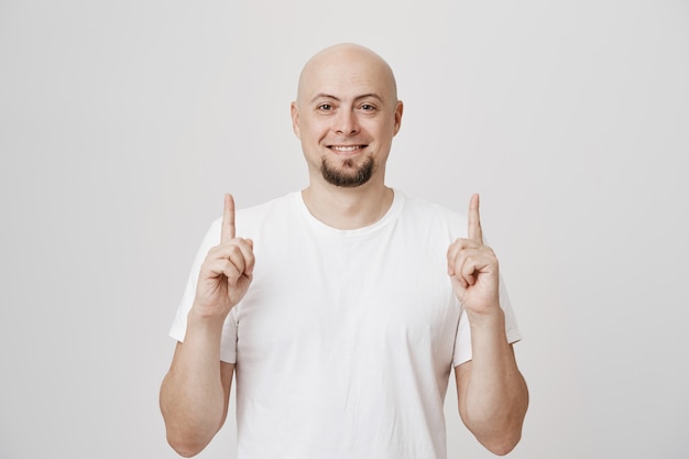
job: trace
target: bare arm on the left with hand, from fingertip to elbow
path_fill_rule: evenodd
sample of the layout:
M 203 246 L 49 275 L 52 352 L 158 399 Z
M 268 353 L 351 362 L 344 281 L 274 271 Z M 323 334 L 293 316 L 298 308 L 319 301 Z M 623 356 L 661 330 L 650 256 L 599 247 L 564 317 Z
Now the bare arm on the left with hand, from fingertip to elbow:
M 167 441 L 182 456 L 203 450 L 228 412 L 234 364 L 220 360 L 222 327 L 253 277 L 253 242 L 234 236 L 234 201 L 225 198 L 220 244 L 201 264 L 196 297 L 161 386 Z

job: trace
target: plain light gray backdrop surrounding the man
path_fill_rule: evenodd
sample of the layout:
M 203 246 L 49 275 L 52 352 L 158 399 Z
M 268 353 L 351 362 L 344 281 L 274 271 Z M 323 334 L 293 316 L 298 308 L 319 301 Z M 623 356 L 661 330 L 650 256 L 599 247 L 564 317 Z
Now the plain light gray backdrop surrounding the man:
M 397 75 L 389 184 L 482 194 L 532 394 L 511 457 L 689 457 L 689 3 L 661 0 L 1 0 L 0 457 L 175 457 L 196 248 L 222 193 L 306 185 L 288 106 L 342 41 Z M 455 403 L 449 456 L 492 457 Z

